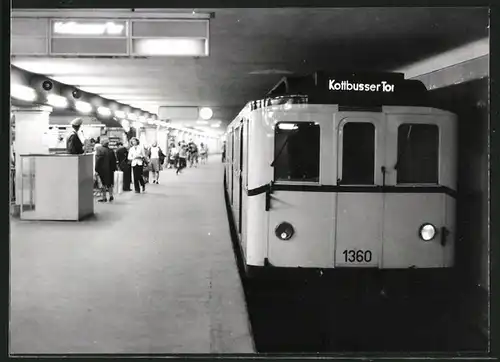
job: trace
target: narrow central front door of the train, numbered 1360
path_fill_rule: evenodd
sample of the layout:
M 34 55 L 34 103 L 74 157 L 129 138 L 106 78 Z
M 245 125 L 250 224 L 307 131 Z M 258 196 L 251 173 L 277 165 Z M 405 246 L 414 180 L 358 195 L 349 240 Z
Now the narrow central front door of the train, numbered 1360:
M 378 267 L 383 242 L 383 113 L 339 114 L 335 267 Z

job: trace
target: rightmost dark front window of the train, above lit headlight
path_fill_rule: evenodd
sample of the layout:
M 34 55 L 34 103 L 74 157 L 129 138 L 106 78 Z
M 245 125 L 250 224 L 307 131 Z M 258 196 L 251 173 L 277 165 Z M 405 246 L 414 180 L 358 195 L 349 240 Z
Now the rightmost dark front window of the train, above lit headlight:
M 398 128 L 398 184 L 438 183 L 439 129 L 433 124 Z

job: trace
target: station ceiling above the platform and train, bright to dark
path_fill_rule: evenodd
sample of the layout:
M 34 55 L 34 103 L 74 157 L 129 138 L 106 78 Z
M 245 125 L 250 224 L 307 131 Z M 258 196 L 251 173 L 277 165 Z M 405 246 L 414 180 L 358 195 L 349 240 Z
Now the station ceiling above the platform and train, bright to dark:
M 148 111 L 156 112 L 159 106 L 210 106 L 214 118 L 227 124 L 248 101 L 262 98 L 284 75 L 394 70 L 487 37 L 489 30 L 487 8 L 196 12 L 214 14 L 209 57 L 15 57 L 12 63 Z

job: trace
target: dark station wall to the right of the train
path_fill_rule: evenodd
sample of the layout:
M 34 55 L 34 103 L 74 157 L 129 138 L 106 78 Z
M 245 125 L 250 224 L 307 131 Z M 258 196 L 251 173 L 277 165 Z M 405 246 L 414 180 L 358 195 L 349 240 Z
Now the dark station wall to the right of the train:
M 464 282 L 489 290 L 489 78 L 431 92 L 436 107 L 458 115 L 457 269 Z

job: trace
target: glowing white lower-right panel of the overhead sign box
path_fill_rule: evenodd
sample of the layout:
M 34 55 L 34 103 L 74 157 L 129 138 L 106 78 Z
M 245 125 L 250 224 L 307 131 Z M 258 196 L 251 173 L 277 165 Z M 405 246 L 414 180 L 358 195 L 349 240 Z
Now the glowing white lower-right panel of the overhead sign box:
M 203 56 L 206 54 L 205 39 L 133 39 L 135 55 Z

